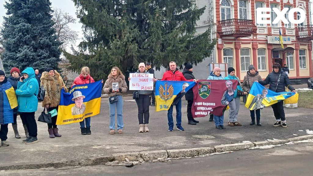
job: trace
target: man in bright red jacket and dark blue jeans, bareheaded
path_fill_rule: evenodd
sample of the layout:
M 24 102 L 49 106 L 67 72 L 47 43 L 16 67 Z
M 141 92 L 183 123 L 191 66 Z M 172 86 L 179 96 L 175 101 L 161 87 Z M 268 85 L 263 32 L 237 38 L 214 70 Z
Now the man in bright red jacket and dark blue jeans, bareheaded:
M 197 80 L 195 80 L 195 79 L 194 80 L 186 80 L 184 75 L 182 75 L 182 72 L 178 71 L 178 69 L 176 68 L 177 66 L 176 66 L 176 63 L 174 61 L 171 61 L 169 66 L 170 66 L 170 69 L 167 70 L 163 74 L 162 81 L 195 81 L 195 82 L 197 82 Z M 168 111 L 167 111 L 168 131 L 170 131 L 170 132 L 173 131 L 173 126 L 174 126 L 173 115 L 172 115 L 173 106 L 174 106 L 174 104 L 172 104 L 170 109 L 168 109 Z M 180 99 L 177 102 L 175 107 L 176 107 L 177 130 L 184 131 L 184 128 L 182 127 L 182 99 Z

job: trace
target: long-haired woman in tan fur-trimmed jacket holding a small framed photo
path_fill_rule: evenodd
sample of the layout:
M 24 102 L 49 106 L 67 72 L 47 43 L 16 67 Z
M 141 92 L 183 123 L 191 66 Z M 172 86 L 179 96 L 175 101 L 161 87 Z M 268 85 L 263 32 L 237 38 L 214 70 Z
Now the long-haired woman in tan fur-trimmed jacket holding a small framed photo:
M 118 89 L 113 90 L 113 83 L 118 84 Z M 108 94 L 109 97 L 116 96 L 117 101 L 110 103 L 110 134 L 115 134 L 115 109 L 117 111 L 117 131 L 119 134 L 123 134 L 123 93 L 127 91 L 127 84 L 125 76 L 118 67 L 113 67 L 108 79 L 105 81 L 103 92 Z M 149 105 L 149 103 L 148 103 Z

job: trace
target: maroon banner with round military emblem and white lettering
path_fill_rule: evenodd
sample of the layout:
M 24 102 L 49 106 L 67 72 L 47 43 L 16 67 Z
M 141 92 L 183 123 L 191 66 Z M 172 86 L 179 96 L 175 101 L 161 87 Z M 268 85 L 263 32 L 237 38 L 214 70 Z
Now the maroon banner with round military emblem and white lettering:
M 193 86 L 192 116 L 223 115 L 223 110 L 233 100 L 238 80 L 198 80 Z

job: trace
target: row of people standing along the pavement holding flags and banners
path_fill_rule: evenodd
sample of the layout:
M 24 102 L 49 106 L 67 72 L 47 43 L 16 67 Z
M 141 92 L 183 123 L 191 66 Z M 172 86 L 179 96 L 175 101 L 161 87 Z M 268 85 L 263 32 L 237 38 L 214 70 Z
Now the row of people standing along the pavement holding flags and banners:
M 185 68 L 183 72 L 180 72 L 177 68 L 177 65 L 174 61 L 169 63 L 169 69 L 163 74 L 161 80 L 166 81 L 195 81 L 197 82 L 193 73 L 192 64 L 185 63 Z M 286 66 L 285 66 L 286 67 Z M 240 108 L 240 96 L 239 93 L 247 92 L 249 94 L 251 87 L 254 82 L 259 82 L 261 85 L 268 85 L 269 90 L 275 92 L 285 91 L 285 86 L 290 89 L 290 91 L 295 92 L 295 89 L 290 85 L 288 68 L 281 68 L 280 64 L 273 64 L 273 71 L 262 80 L 259 72 L 255 70 L 254 65 L 249 66 L 249 71 L 244 76 L 242 86 L 237 85 L 236 89 L 232 89 L 232 81 L 226 81 L 226 87 L 228 88 L 223 95 L 222 104 L 229 106 L 229 115 L 228 115 L 228 126 L 242 126 L 238 121 L 238 113 Z M 155 106 L 155 82 L 158 80 L 154 77 L 154 70 L 151 68 L 150 63 L 140 63 L 138 65 L 137 73 L 149 73 L 153 74 L 154 89 L 153 91 L 137 91 L 138 98 L 136 98 L 136 104 L 138 107 L 138 122 L 139 122 L 139 132 L 149 132 L 149 106 Z M 130 80 L 131 78 L 128 78 Z M 228 76 L 223 78 L 221 75 L 221 69 L 215 67 L 211 71 L 207 80 L 237 80 L 240 83 L 239 78 L 235 75 L 235 69 L 233 67 L 228 68 Z M 90 76 L 90 69 L 88 67 L 83 67 L 81 69 L 80 75 L 75 78 L 74 85 L 80 84 L 90 84 L 95 82 L 95 80 Z M 103 80 L 102 80 L 103 83 Z M 118 84 L 118 89 L 114 89 L 112 83 Z M 229 84 L 228 84 L 229 83 Z M 18 106 L 11 108 L 9 106 L 8 96 L 6 91 L 13 87 Z M 31 67 L 26 68 L 22 72 L 16 67 L 10 70 L 10 76 L 7 78 L 5 73 L 0 70 L 0 138 L 1 146 L 9 146 L 7 140 L 8 134 L 8 124 L 12 123 L 13 132 L 15 138 L 20 139 L 21 136 L 18 133 L 17 128 L 17 116 L 20 116 L 22 124 L 25 131 L 26 139 L 22 142 L 25 144 L 32 144 L 38 142 L 37 139 L 37 124 L 35 120 L 35 112 L 37 111 L 38 106 L 38 90 L 39 87 L 45 89 L 44 100 L 42 101 L 42 107 L 50 111 L 58 111 L 58 106 L 60 102 L 61 90 L 66 88 L 62 77 L 60 74 L 54 70 L 54 68 L 47 68 L 42 74 L 39 74 L 38 70 L 34 70 Z M 118 67 L 113 67 L 110 74 L 108 75 L 107 80 L 105 81 L 103 92 L 108 94 L 109 97 L 115 96 L 117 101 L 110 103 L 110 125 L 109 134 L 115 134 L 115 112 L 117 115 L 117 132 L 118 134 L 123 134 L 123 97 L 122 94 L 126 93 L 128 87 L 125 81 L 125 76 Z M 80 101 L 80 95 L 73 97 L 73 101 Z M 152 99 L 152 101 L 151 101 Z M 193 103 L 193 92 L 189 90 L 185 94 L 185 99 L 187 101 L 187 119 L 189 125 L 197 125 L 199 121 L 195 120 L 192 116 L 191 107 Z M 168 131 L 173 131 L 174 122 L 173 122 L 173 108 L 176 108 L 176 129 L 179 131 L 184 131 L 182 127 L 182 100 L 176 99 L 169 107 L 167 111 L 167 120 L 168 120 Z M 262 106 L 260 106 L 262 107 Z M 80 108 L 80 107 L 78 107 Z M 283 108 L 283 101 L 272 105 L 274 116 L 276 122 L 273 125 L 274 127 L 287 127 L 285 112 Z M 225 109 L 224 109 L 225 111 Z M 58 132 L 58 127 L 56 125 L 57 113 L 51 117 L 52 123 L 48 123 L 48 133 L 50 138 L 61 137 L 62 135 Z M 257 120 L 257 125 L 261 126 L 260 122 L 260 109 L 250 110 L 251 122 L 250 125 L 255 124 L 255 116 Z M 217 116 L 210 114 L 209 121 L 215 122 L 216 129 L 225 129 L 224 127 L 224 115 Z M 80 129 L 82 135 L 90 135 L 90 117 L 85 118 L 80 122 Z M 1 147 L 0 146 L 0 147 Z

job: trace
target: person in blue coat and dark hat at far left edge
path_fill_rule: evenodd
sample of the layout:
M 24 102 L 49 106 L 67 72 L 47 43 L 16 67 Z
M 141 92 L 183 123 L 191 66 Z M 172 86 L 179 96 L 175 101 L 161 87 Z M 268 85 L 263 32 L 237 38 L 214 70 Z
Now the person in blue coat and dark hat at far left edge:
M 0 70 L 0 138 L 1 146 L 9 146 L 8 139 L 8 124 L 13 123 L 13 108 L 11 108 L 7 90 L 12 88 L 11 83 L 5 76 L 4 71 Z M 16 101 L 16 98 L 15 98 Z M 16 102 L 15 102 L 16 103 Z M 0 146 L 0 147 L 1 147 Z

